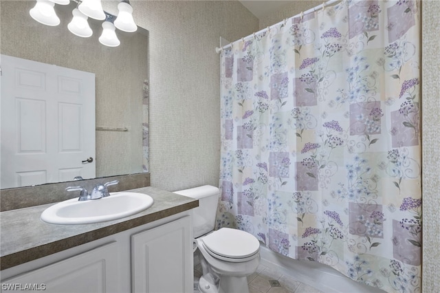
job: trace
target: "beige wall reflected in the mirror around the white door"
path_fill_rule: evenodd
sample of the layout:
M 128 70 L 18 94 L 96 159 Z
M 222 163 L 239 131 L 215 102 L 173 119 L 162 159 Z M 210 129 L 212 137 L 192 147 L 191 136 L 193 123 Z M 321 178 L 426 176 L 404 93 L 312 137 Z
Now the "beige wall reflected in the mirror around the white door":
M 35 3 L 0 2 L 0 53 L 94 73 L 96 177 L 148 172 L 148 31 L 117 30 L 120 46 L 106 47 L 98 41 L 102 21 L 89 19 L 94 32 L 89 38 L 67 30 L 74 1 L 55 5 L 61 20 L 55 27 L 30 17 Z M 116 14 L 118 3 L 103 1 L 103 8 Z

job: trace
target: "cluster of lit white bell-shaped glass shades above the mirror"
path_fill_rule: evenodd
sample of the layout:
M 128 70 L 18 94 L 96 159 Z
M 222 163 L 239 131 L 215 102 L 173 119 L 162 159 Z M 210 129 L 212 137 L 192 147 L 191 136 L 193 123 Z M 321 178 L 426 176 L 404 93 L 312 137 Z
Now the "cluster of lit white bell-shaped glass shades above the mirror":
M 55 3 L 67 5 L 71 0 L 36 0 L 34 8 L 30 10 L 30 16 L 44 25 L 56 26 L 60 24 L 60 19 L 54 10 Z M 87 38 L 93 34 L 87 21 L 88 18 L 104 20 L 102 23 L 102 34 L 99 38 L 102 45 L 117 47 L 120 45 L 115 28 L 124 32 L 135 32 L 137 25 L 133 20 L 133 8 L 129 0 L 122 0 L 118 4 L 118 17 L 102 10 L 101 0 L 72 0 L 78 6 L 72 11 L 72 21 L 67 25 L 67 29 L 75 34 Z M 116 19 L 115 19 L 116 18 Z M 114 23 L 114 24 L 113 24 Z

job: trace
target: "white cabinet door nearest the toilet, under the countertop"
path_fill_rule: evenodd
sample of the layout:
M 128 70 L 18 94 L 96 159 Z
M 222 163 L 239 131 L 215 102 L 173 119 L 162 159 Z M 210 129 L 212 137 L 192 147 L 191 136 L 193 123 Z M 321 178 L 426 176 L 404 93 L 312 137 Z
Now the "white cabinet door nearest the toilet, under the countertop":
M 133 292 L 194 292 L 190 224 L 182 217 L 131 236 Z

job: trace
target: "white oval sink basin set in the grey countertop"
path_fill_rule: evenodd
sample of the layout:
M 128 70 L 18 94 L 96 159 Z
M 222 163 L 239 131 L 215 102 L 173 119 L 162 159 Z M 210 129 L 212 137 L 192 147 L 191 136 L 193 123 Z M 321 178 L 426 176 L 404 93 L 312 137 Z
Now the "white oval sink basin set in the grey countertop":
M 50 224 L 91 224 L 128 217 L 146 210 L 153 198 L 143 193 L 110 193 L 109 197 L 78 202 L 78 197 L 46 208 L 41 219 Z

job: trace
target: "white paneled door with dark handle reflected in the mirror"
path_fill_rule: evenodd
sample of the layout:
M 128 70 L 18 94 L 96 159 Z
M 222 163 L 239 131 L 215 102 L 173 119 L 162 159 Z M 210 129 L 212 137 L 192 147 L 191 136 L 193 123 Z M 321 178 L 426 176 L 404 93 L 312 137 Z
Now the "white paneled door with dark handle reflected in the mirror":
M 1 188 L 95 177 L 95 74 L 0 61 Z

